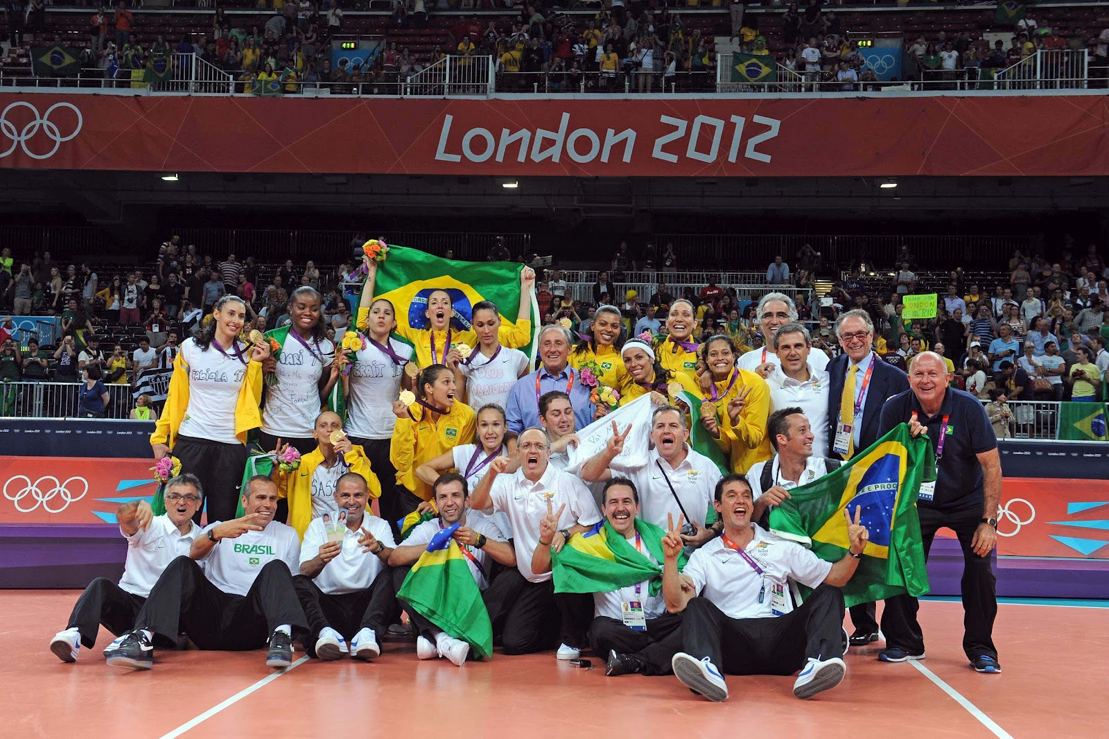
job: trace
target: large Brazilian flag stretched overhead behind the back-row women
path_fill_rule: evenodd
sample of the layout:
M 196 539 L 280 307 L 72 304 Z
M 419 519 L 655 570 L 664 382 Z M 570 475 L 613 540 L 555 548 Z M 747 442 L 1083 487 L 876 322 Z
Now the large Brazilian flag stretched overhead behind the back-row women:
M 433 256 L 418 249 L 389 246 L 385 261 L 377 267 L 375 297 L 389 300 L 397 310 L 397 327 L 426 328 L 427 298 L 436 290 L 445 290 L 455 305 L 450 325 L 455 331 L 472 331 L 474 305 L 492 301 L 501 321 L 515 323 L 519 317 L 520 270 L 515 262 L 459 262 Z M 368 307 L 368 306 L 367 306 Z M 357 306 L 354 316 L 358 315 Z M 539 306 L 531 298 L 532 326 L 540 322 Z M 398 331 L 397 333 L 401 333 Z M 399 341 L 406 341 L 397 335 Z M 535 356 L 535 342 L 520 351 Z

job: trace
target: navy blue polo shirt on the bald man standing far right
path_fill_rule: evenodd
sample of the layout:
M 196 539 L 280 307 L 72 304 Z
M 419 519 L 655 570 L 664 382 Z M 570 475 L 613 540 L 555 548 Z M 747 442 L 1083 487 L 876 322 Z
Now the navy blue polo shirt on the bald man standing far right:
M 977 455 L 997 448 L 997 436 L 989 423 L 981 401 L 960 389 L 948 387 L 944 393 L 944 404 L 934 416 L 927 416 L 920 408 L 913 391 L 898 393 L 882 406 L 878 436 L 885 435 L 899 423 L 908 423 L 913 412 L 917 422 L 928 429 L 933 448 L 939 445 L 939 429 L 947 416 L 947 434 L 944 438 L 944 456 L 936 465 L 936 494 L 929 500 L 919 500 L 923 508 L 943 512 L 981 509 L 985 475 Z

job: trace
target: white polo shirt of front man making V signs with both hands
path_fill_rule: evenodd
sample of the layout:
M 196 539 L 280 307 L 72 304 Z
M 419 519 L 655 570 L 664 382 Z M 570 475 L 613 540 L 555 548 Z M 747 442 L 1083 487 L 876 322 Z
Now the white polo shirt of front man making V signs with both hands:
M 754 538 L 746 546 L 747 553 L 763 570 L 760 575 L 737 551 L 724 544 L 723 537 L 712 539 L 693 553 L 685 565 L 684 575 L 693 580 L 693 589 L 720 608 L 729 618 L 770 618 L 770 588 L 763 601 L 759 591 L 766 580 L 784 585 L 786 578 L 815 588 L 832 571 L 832 563 L 824 561 L 794 541 L 773 536 L 756 524 Z

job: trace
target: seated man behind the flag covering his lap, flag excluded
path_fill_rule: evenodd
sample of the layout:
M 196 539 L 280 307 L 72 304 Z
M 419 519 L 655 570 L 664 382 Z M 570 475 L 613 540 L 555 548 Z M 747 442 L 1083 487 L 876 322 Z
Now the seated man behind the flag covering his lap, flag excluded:
M 433 538 L 449 529 L 455 524 L 458 528 L 451 534 L 451 538 L 458 543 L 466 564 L 470 568 L 470 575 L 482 591 L 489 585 L 489 570 L 492 563 L 497 561 L 506 567 L 516 567 L 516 550 L 512 545 L 505 539 L 497 525 L 488 517 L 475 516 L 468 518 L 469 509 L 469 485 L 466 478 L 458 473 L 444 473 L 431 486 L 435 495 L 435 507 L 439 510 L 439 517 L 426 520 L 411 530 L 404 544 L 393 550 L 389 564 L 406 569 L 415 565 L 425 551 Z M 430 618 L 419 613 L 414 604 L 407 604 L 408 616 L 413 624 L 419 629 L 419 637 L 416 639 L 416 656 L 420 659 L 435 659 L 446 657 L 455 665 L 461 667 L 470 654 L 470 645 L 456 635 L 448 634 L 436 626 Z

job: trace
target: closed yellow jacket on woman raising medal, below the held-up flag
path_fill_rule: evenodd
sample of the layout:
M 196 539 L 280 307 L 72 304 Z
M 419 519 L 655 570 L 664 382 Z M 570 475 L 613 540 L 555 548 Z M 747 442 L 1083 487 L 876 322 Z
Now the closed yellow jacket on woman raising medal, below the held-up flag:
M 398 418 L 389 444 L 389 462 L 397 468 L 397 484 L 413 495 L 430 500 L 431 486 L 416 477 L 416 468 L 459 444 L 469 444 L 477 432 L 477 414 L 455 401 L 450 413 L 431 421 L 431 412 L 421 405 L 409 408 L 413 418 Z

